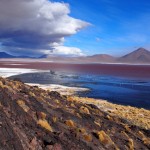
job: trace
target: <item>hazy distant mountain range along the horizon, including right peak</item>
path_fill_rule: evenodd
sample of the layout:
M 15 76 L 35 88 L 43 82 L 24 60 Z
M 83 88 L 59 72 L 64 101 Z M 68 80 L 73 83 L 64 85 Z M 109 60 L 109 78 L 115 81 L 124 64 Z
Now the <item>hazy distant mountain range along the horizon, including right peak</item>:
M 13 56 L 5 52 L 0 52 L 0 58 L 34 58 L 29 56 Z M 60 55 L 42 55 L 37 59 L 46 59 L 54 62 L 73 62 L 73 63 L 150 63 L 150 51 L 144 48 L 126 54 L 122 57 L 113 57 L 107 54 L 97 54 L 93 56 L 60 56 Z

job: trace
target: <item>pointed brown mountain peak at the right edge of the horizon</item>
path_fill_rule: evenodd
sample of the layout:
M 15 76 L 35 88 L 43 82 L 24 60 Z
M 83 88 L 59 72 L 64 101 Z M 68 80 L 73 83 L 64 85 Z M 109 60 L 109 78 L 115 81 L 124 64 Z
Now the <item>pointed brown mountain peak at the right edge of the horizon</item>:
M 137 50 L 120 57 L 118 61 L 131 63 L 150 63 L 150 51 L 144 48 L 138 48 Z

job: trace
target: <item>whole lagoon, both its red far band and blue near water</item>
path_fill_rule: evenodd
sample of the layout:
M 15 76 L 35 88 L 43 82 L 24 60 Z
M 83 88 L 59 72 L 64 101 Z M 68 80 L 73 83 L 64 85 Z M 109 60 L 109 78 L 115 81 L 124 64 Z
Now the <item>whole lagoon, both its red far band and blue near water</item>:
M 0 67 L 56 71 L 54 78 L 51 72 L 23 74 L 14 78 L 29 83 L 86 87 L 90 92 L 80 96 L 150 109 L 150 65 L 1 62 Z M 57 71 L 65 74 L 57 75 Z

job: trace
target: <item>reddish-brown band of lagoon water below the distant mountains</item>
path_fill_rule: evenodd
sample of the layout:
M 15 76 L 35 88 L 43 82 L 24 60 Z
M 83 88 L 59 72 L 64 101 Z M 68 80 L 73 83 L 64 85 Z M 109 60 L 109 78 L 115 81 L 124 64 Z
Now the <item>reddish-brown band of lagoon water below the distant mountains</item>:
M 11 65 L 14 64 L 14 65 Z M 15 65 L 16 64 L 16 65 Z M 21 65 L 17 65 L 21 64 Z M 150 65 L 128 64 L 68 64 L 49 62 L 0 62 L 4 68 L 30 68 L 65 72 L 78 72 L 96 75 L 112 75 L 131 78 L 150 79 Z

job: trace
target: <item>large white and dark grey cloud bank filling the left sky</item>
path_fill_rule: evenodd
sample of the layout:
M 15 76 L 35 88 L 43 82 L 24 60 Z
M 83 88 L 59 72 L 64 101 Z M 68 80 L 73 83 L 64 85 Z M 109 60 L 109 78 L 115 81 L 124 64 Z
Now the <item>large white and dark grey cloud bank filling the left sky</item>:
M 82 52 L 64 47 L 64 38 L 89 25 L 69 16 L 66 3 L 48 0 L 0 0 L 0 43 L 12 53 Z M 62 48 L 62 50 L 60 49 Z

